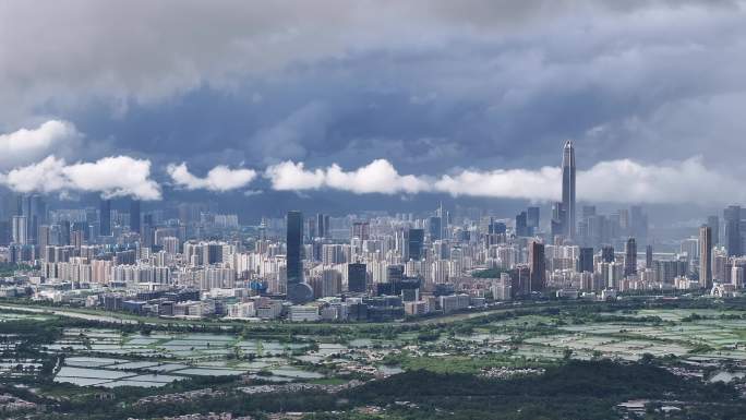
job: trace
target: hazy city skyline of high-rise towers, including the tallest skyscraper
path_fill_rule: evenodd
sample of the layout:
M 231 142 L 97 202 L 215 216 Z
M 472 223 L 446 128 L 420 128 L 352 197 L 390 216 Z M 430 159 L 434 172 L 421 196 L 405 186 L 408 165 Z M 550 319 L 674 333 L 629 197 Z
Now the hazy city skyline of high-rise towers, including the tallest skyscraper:
M 594 297 L 609 290 L 714 293 L 724 286 L 746 286 L 738 272 L 746 266 L 746 213 L 741 206 L 723 208 L 722 224 L 718 215 L 707 216 L 707 223 L 691 232 L 696 235 L 657 238 L 639 205 L 617 207 L 612 214 L 583 205 L 578 212 L 575 164 L 573 142 L 566 141 L 563 176 L 555 180 L 563 201 L 544 217 L 541 207 L 529 206 L 515 223 L 477 208 L 452 213 L 438 203 L 426 215 L 384 212 L 333 218 L 287 211 L 285 219 L 263 217 L 260 225 L 248 227 L 237 215 L 220 213 L 217 203 L 181 203 L 169 215 L 165 209 L 143 212 L 135 199 L 120 212 L 110 199 L 101 199 L 98 208 L 56 209 L 38 194 L 19 195 L 10 202 L 11 217 L 0 221 L 0 245 L 5 245 L 0 252 L 10 264 L 40 267 L 34 269 L 52 284 L 72 280 L 106 290 L 113 285 L 141 288 L 142 283 L 163 290 L 172 284 L 193 286 L 190 277 L 204 272 L 200 288 L 206 291 L 242 283 L 253 292 L 285 297 L 294 305 L 340 295 L 350 287 L 350 275 L 357 292 L 401 293 L 405 301 L 418 302 L 420 290 L 437 291 L 452 276 L 470 276 L 480 267 L 508 272 L 512 296 L 524 299 L 548 290 L 560 296 L 577 289 Z M 670 244 L 661 250 L 672 240 L 678 242 L 678 252 Z M 640 249 L 645 245 L 643 264 L 638 261 L 638 243 Z M 269 259 L 262 264 L 270 262 L 270 268 L 254 267 L 246 257 Z M 366 262 L 377 268 L 366 267 Z M 103 271 L 94 268 L 101 264 Z M 360 278 L 363 268 L 365 279 Z M 189 277 L 181 278 L 184 275 Z M 500 278 L 507 280 L 502 274 Z

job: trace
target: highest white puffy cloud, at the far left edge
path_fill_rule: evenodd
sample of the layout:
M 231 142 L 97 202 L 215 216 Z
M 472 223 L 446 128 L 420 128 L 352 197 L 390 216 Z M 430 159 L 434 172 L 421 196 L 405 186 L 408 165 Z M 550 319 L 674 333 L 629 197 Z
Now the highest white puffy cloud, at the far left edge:
M 71 122 L 49 120 L 34 129 L 0 134 L 0 168 L 26 165 L 52 151 L 70 151 L 82 145 L 83 135 Z

